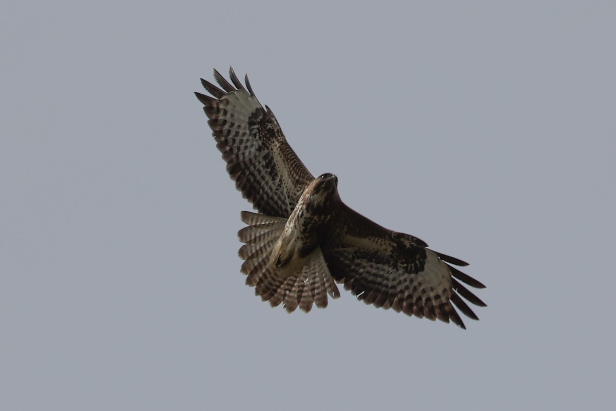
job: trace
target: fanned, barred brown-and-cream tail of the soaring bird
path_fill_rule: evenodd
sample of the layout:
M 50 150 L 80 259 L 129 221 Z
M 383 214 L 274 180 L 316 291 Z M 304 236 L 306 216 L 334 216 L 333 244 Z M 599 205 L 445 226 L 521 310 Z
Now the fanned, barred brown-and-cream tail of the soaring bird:
M 328 294 L 332 298 L 340 297 L 319 247 L 296 273 L 269 266 L 270 254 L 285 228 L 286 218 L 244 211 L 241 220 L 248 224 L 238 232 L 240 241 L 245 243 L 239 252 L 245 260 L 241 272 L 248 275 L 246 284 L 256 287 L 255 292 L 262 300 L 272 306 L 283 303 L 288 313 L 298 307 L 307 313 L 313 303 L 325 308 Z

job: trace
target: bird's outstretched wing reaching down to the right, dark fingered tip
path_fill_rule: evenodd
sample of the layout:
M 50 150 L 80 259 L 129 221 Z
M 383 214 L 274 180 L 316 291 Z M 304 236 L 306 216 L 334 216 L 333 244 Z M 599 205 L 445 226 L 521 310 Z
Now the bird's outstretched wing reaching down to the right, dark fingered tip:
M 453 306 L 469 318 L 478 318 L 461 297 L 485 306 L 461 282 L 476 288 L 485 285 L 447 264 L 467 263 L 429 250 L 420 239 L 383 228 L 347 206 L 321 247 L 336 281 L 367 304 L 452 321 L 463 329 Z

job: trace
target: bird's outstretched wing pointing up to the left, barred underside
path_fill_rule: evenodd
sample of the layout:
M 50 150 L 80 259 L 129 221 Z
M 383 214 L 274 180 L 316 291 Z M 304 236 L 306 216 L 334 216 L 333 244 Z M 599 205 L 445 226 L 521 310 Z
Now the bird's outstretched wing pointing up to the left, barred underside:
M 244 198 L 261 213 L 288 218 L 314 177 L 286 142 L 274 113 L 255 97 L 248 76 L 246 87 L 232 68 L 229 76 L 233 85 L 214 70 L 222 90 L 201 79 L 213 97 L 195 93 L 204 105 L 216 146 Z

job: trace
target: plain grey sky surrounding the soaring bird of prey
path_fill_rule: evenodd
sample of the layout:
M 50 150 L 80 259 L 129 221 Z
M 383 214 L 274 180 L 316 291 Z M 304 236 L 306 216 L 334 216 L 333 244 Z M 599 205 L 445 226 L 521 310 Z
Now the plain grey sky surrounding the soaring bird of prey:
M 4 2 L 0 409 L 609 409 L 614 2 Z M 193 91 L 249 73 L 313 174 L 469 261 L 468 330 L 243 283 Z

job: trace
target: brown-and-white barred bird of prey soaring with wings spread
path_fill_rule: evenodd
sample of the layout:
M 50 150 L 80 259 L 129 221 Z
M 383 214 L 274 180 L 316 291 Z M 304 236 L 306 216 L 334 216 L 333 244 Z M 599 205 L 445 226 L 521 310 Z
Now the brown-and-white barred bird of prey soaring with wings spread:
M 458 258 L 428 249 L 417 237 L 386 229 L 348 207 L 338 178 L 314 177 L 300 161 L 267 106 L 230 68 L 231 82 L 214 70 L 219 86 L 201 79 L 211 96 L 195 93 L 235 186 L 257 213 L 243 211 L 238 232 L 246 284 L 270 305 L 292 313 L 325 308 L 340 296 L 336 282 L 357 299 L 384 309 L 452 321 L 454 308 L 478 319 L 462 299 L 485 306 L 462 283 L 485 285 L 454 266 Z

